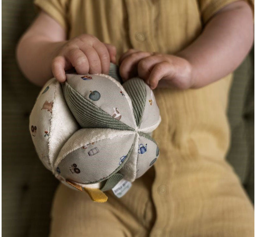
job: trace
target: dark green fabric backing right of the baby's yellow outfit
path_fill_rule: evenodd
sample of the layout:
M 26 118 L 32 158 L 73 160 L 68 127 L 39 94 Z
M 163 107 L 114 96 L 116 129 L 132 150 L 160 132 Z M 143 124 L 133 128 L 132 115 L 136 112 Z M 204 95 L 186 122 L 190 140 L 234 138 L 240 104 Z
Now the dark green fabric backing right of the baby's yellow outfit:
M 254 47 L 234 73 L 228 118 L 231 146 L 227 160 L 254 203 Z

